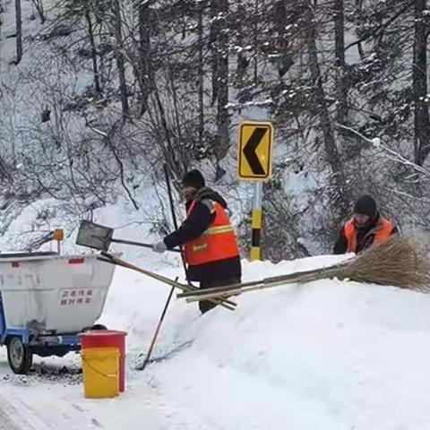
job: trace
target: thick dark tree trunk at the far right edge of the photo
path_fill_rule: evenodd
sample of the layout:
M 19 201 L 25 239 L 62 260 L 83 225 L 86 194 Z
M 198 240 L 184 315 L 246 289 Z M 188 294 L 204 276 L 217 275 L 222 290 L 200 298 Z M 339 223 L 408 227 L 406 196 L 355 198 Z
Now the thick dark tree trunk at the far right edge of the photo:
M 415 104 L 415 162 L 422 166 L 430 153 L 430 118 L 426 105 L 427 96 L 427 39 L 423 11 L 426 0 L 415 0 L 415 38 L 412 79 Z

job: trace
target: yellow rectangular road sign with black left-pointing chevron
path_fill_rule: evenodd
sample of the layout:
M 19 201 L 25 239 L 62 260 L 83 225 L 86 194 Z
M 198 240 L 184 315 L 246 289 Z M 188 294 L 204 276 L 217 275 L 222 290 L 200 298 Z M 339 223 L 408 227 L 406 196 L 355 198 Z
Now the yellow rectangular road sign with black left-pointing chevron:
M 273 134 L 271 123 L 245 121 L 240 125 L 238 148 L 240 178 L 260 181 L 271 179 Z

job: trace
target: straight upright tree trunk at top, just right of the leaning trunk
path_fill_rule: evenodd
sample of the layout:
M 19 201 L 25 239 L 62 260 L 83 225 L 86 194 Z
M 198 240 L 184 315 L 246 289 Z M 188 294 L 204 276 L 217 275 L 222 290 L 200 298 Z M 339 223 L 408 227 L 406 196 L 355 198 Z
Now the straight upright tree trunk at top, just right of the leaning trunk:
M 336 54 L 337 121 L 345 124 L 348 115 L 348 87 L 345 82 L 345 16 L 343 0 L 334 0 L 334 41 Z

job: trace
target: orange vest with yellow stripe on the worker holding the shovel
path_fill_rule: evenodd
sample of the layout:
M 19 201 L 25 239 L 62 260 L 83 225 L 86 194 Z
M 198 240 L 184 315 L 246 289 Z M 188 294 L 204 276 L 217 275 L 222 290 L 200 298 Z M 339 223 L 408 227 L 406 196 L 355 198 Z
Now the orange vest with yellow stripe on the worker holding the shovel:
M 195 202 L 192 202 L 186 214 L 190 216 Z M 214 202 L 215 218 L 202 236 L 185 244 L 185 260 L 191 266 L 206 262 L 227 260 L 239 255 L 236 235 L 224 208 Z

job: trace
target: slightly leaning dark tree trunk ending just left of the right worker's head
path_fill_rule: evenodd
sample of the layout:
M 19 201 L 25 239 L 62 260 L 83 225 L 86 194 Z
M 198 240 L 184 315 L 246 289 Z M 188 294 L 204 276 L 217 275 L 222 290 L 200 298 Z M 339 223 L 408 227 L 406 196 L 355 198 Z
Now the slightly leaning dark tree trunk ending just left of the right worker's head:
M 320 127 L 323 131 L 323 144 L 327 161 L 331 167 L 332 185 L 334 187 L 333 205 L 339 208 L 339 216 L 343 218 L 348 213 L 349 189 L 343 172 L 342 163 L 338 148 L 336 146 L 332 121 L 327 106 L 325 91 L 323 89 L 323 78 L 318 60 L 318 50 L 316 47 L 316 28 L 314 21 L 313 6 L 308 2 L 306 22 L 308 22 L 307 50 L 309 56 L 309 67 L 312 80 L 314 82 L 314 97 L 318 108 Z

